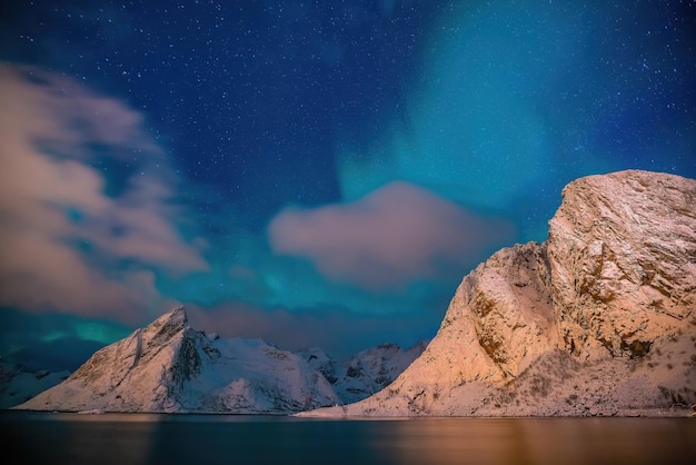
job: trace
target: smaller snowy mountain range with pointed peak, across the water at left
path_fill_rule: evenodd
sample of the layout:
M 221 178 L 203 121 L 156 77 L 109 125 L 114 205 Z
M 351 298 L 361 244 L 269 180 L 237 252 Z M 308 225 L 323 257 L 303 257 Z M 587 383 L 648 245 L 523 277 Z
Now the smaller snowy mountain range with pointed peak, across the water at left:
M 419 353 L 385 345 L 338 363 L 320 349 L 291 353 L 260 339 L 207 335 L 179 307 L 16 408 L 286 414 L 365 398 Z

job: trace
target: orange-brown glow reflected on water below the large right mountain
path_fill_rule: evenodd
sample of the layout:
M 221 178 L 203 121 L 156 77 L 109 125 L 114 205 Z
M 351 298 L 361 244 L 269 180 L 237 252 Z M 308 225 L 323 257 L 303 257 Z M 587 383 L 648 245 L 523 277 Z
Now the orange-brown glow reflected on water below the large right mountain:
M 695 464 L 688 418 L 441 418 L 395 425 L 402 464 Z

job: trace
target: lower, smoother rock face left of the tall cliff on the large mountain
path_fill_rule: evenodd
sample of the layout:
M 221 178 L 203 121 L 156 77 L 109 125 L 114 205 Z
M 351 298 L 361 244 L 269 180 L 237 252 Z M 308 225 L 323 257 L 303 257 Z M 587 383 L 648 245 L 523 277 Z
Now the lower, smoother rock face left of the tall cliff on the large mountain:
M 544 245 L 496 253 L 459 285 L 436 337 L 387 390 L 427 404 L 468 382 L 516 376 L 556 347 L 548 281 Z

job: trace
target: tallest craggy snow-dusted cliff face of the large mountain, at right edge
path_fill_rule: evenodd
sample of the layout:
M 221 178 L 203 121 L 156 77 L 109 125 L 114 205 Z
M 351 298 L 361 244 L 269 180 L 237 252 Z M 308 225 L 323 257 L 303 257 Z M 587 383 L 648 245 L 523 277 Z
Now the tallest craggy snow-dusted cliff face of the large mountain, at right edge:
M 548 255 L 565 348 L 640 357 L 696 306 L 696 182 L 622 171 L 569 184 Z

